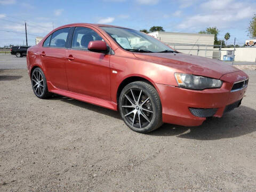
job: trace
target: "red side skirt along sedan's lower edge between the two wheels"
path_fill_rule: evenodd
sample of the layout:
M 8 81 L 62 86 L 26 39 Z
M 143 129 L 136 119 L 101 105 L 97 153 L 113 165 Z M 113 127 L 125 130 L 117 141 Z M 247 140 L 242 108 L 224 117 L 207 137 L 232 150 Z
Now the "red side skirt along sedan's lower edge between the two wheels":
M 74 93 L 71 91 L 59 90 L 56 87 L 54 87 L 51 82 L 47 82 L 47 86 L 48 86 L 49 92 L 56 93 L 56 94 L 59 94 L 59 95 L 62 95 L 62 96 L 68 97 L 68 98 L 73 98 L 73 99 L 76 99 L 79 101 L 91 103 L 93 105 L 105 107 L 108 109 L 117 110 L 117 103 L 115 103 L 115 102 L 108 101 L 105 99 L 95 98 L 95 97 L 92 97 L 89 95 Z

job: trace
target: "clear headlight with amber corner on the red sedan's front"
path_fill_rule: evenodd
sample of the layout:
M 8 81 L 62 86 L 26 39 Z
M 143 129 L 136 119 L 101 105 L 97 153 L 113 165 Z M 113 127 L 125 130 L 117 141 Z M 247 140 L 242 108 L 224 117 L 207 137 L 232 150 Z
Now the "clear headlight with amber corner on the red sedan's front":
M 211 88 L 220 88 L 222 85 L 222 81 L 220 81 L 219 79 L 209 77 L 181 73 L 175 73 L 174 76 L 179 87 L 183 87 L 185 89 L 204 90 Z

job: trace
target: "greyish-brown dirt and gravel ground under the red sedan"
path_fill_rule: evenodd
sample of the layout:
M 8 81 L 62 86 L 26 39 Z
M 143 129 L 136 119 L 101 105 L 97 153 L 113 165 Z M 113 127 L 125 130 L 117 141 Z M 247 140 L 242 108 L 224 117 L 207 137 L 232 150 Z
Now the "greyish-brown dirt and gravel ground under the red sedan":
M 117 111 L 35 97 L 0 70 L 0 191 L 255 191 L 256 70 L 242 106 L 202 126 L 131 131 Z

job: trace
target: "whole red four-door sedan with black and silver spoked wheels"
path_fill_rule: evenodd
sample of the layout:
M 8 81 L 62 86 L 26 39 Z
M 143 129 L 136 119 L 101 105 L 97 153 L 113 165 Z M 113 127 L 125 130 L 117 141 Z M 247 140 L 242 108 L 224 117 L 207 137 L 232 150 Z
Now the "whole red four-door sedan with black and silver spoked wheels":
M 51 93 L 119 110 L 133 131 L 201 125 L 239 105 L 249 77 L 221 61 L 175 51 L 140 31 L 75 23 L 28 49 L 38 98 Z

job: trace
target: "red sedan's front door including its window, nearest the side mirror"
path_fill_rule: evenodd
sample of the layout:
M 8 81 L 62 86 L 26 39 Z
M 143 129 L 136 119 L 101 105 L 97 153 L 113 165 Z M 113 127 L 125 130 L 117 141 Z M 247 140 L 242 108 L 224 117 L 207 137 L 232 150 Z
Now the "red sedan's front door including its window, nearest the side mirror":
M 110 54 L 87 49 L 90 41 L 107 41 L 91 27 L 75 27 L 67 57 L 70 91 L 110 100 Z M 109 43 L 109 42 L 106 42 Z

